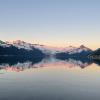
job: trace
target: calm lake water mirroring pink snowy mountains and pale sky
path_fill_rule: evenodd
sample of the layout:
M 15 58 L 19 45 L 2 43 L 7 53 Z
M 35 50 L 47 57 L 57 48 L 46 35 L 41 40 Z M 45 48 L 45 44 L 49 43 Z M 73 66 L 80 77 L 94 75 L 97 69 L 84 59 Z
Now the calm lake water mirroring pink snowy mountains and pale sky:
M 1 62 L 0 100 L 100 100 L 100 66 L 53 58 Z

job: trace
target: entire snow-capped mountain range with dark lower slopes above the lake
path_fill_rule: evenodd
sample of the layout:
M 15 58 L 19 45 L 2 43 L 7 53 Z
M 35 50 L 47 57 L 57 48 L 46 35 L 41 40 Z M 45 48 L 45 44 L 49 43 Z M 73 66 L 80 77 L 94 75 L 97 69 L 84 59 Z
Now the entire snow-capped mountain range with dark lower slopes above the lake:
M 0 40 L 0 56 L 24 56 L 27 58 L 55 56 L 56 58 L 84 58 L 96 54 L 96 51 L 81 45 L 65 48 L 49 47 L 40 44 L 31 44 L 21 40 L 4 42 Z M 98 53 L 100 55 L 100 52 Z

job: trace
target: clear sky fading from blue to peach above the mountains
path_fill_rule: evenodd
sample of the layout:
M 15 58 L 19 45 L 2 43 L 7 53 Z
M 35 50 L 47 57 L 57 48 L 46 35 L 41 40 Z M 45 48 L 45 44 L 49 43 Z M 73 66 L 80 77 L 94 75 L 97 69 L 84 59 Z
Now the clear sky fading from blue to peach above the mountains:
M 99 0 L 0 0 L 0 39 L 100 47 Z

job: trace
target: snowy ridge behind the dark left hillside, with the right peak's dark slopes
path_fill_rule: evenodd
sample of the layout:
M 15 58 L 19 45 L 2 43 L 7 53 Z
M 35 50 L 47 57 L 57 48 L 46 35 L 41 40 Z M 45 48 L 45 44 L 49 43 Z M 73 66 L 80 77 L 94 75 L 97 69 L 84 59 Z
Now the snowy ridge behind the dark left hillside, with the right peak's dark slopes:
M 25 41 L 21 41 L 21 40 L 16 40 L 13 42 L 4 42 L 0 40 L 0 47 L 3 48 L 16 48 L 19 51 L 34 51 L 34 50 L 39 50 L 41 53 L 43 53 L 44 55 L 48 55 L 48 56 L 55 56 L 55 57 L 87 57 L 87 55 L 90 55 L 91 53 L 93 53 L 94 51 L 84 45 L 80 45 L 79 47 L 75 47 L 75 46 L 69 46 L 69 47 L 65 47 L 65 48 L 54 48 L 54 47 L 50 47 L 50 46 L 46 46 L 46 45 L 40 45 L 40 44 L 32 44 L 32 43 L 27 43 Z M 17 51 L 18 51 L 17 50 Z M 28 56 L 28 55 L 27 55 Z

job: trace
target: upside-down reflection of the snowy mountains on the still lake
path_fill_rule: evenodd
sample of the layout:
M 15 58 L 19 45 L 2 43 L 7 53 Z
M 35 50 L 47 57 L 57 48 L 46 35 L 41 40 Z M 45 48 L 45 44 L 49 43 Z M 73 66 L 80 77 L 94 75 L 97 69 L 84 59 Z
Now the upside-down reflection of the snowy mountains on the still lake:
M 20 72 L 30 68 L 41 68 L 41 67 L 80 67 L 85 68 L 91 65 L 92 63 L 96 63 L 100 65 L 100 61 L 92 61 L 87 59 L 65 59 L 59 60 L 55 58 L 36 58 L 36 59 L 25 59 L 25 58 L 17 58 L 17 57 L 1 57 L 0 58 L 0 70 L 9 70 Z

